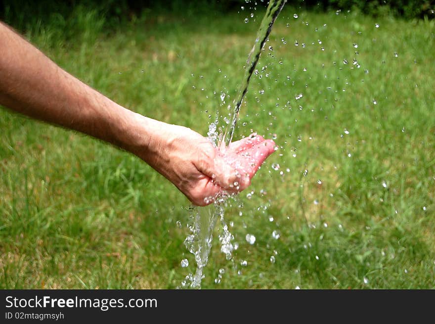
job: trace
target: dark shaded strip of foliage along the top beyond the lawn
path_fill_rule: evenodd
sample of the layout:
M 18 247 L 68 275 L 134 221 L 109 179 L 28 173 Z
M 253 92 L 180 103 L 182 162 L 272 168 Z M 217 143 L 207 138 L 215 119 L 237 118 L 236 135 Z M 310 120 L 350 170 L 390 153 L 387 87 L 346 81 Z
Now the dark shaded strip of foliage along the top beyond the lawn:
M 119 23 L 131 21 L 144 14 L 158 15 L 179 14 L 194 17 L 198 14 L 220 15 L 266 6 L 266 0 L 0 0 L 0 19 L 20 31 L 33 24 L 43 24 L 55 17 L 67 20 L 75 8 L 83 6 L 97 10 L 105 19 L 105 28 L 116 27 Z M 359 10 L 364 14 L 394 15 L 405 19 L 435 17 L 434 0 L 294 0 L 288 1 L 287 7 L 297 9 L 325 10 Z

